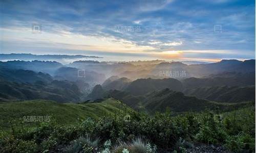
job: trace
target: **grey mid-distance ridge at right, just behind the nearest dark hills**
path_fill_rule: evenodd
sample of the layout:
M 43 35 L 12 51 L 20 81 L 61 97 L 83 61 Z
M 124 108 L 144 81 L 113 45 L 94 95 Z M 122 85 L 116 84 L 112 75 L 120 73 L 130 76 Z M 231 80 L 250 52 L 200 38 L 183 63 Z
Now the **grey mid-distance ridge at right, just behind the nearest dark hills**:
M 173 78 L 164 79 L 137 79 L 131 81 L 117 76 L 110 77 L 102 84 L 104 90 L 121 90 L 133 95 L 143 95 L 148 92 L 169 88 L 174 91 L 183 91 L 212 86 L 250 86 L 255 85 L 255 72 L 237 73 L 224 72 L 211 74 L 203 78 L 187 78 L 181 81 Z

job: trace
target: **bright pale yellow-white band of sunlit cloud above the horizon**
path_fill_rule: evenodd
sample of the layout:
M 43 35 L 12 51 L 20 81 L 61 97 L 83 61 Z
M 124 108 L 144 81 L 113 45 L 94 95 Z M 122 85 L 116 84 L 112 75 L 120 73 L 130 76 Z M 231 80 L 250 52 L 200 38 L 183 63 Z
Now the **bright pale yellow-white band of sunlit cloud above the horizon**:
M 23 45 L 38 48 L 51 47 L 53 49 L 69 50 L 91 50 L 97 53 L 112 54 L 134 54 L 155 57 L 164 60 L 197 60 L 205 62 L 218 62 L 222 58 L 197 58 L 200 55 L 237 55 L 237 50 L 168 50 L 161 51 L 152 46 L 137 45 L 134 42 L 116 39 L 113 36 L 84 36 L 82 34 L 71 33 L 69 31 L 42 32 L 41 34 L 31 33 L 28 28 L 7 29 L 0 28 L 2 41 L 19 42 Z M 161 42 L 155 42 L 159 44 Z M 153 43 L 154 44 L 154 43 Z M 170 42 L 168 45 L 180 45 L 182 42 Z M 195 57 L 190 57 L 191 55 Z M 243 53 L 244 55 L 244 53 Z M 124 55 L 125 56 L 125 55 Z M 225 58 L 226 59 L 226 58 Z M 240 58 L 241 59 L 241 58 Z

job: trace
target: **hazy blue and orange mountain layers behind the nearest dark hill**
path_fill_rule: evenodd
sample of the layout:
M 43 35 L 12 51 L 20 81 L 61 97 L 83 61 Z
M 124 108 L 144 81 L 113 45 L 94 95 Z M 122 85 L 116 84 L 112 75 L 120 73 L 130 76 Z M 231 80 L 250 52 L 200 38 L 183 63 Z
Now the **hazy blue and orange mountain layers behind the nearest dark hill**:
M 77 102 L 86 98 L 97 99 L 112 94 L 113 96 L 115 95 L 124 99 L 126 103 L 131 104 L 131 106 L 136 105 L 136 107 L 141 107 L 145 106 L 142 105 L 142 99 L 144 99 L 148 93 L 168 88 L 175 92 L 187 91 L 186 95 L 195 95 L 198 98 L 237 103 L 242 100 L 253 100 L 251 98 L 251 88 L 242 87 L 255 85 L 255 70 L 252 70 L 252 68 L 255 68 L 254 62 L 255 60 L 222 60 L 217 63 L 197 65 L 186 65 L 181 62 L 162 62 L 150 65 L 142 62 L 144 65 L 133 65 L 125 62 L 108 64 L 106 62 L 86 61 L 81 63 L 78 62 L 81 67 L 77 68 L 75 65 L 72 66 L 72 64 L 68 67 L 58 62 L 49 61 L 8 61 L 0 62 L 0 80 L 2 80 L 3 90 L 4 87 L 8 87 L 11 91 L 2 94 L 3 97 L 7 97 L 5 99 L 8 99 L 8 97 L 11 99 L 48 99 L 50 97 L 49 99 L 55 99 L 56 101 Z M 148 63 L 148 61 L 145 63 Z M 90 67 L 89 70 L 86 69 L 88 67 Z M 180 80 L 174 78 L 159 79 L 156 75 L 152 75 L 154 70 L 165 70 L 169 68 L 184 71 L 186 71 L 187 68 L 198 68 L 197 70 L 202 71 L 207 68 L 207 70 L 206 72 L 201 72 L 200 75 L 202 75 L 202 78 L 189 77 Z M 221 73 L 208 74 L 208 72 L 211 72 L 212 68 L 219 69 L 216 72 L 220 71 Z M 134 77 L 132 78 L 141 76 L 142 78 L 132 80 L 126 77 L 120 77 L 119 75 L 114 75 L 105 80 L 105 71 L 101 71 L 105 69 L 111 70 L 111 73 L 113 74 L 121 72 L 119 74 L 133 75 Z M 191 71 L 191 69 L 189 70 Z M 82 71 L 84 75 L 80 75 L 79 71 Z M 53 77 L 47 74 L 48 72 Z M 156 78 L 145 78 L 148 75 Z M 98 86 L 97 84 L 102 84 L 102 86 Z M 92 88 L 94 86 L 95 89 Z M 206 90 L 206 87 L 215 89 L 214 87 L 216 86 L 228 86 L 230 88 L 227 88 L 225 94 L 222 96 L 218 96 L 220 94 L 217 94 L 218 92 L 214 92 L 214 90 L 211 91 L 215 93 L 212 94 L 215 96 L 210 96 L 206 92 L 203 92 L 204 89 Z M 233 90 L 233 88 L 231 88 L 233 86 L 237 86 L 237 90 Z M 205 94 L 198 94 L 196 88 L 202 88 L 202 93 Z M 250 94 L 248 95 L 246 95 L 246 93 L 249 93 L 246 92 L 247 90 L 250 91 Z M 81 92 L 83 94 L 81 94 Z M 90 92 L 91 94 L 87 96 Z M 16 93 L 18 93 L 17 95 L 22 96 L 16 97 Z M 35 96 L 31 96 L 33 95 L 32 93 Z M 240 98 L 237 98 L 239 100 L 236 101 L 232 98 L 236 97 L 232 96 L 232 94 L 239 95 Z M 29 98 L 24 98 L 26 96 L 29 96 Z M 246 98 L 244 98 L 244 96 L 246 96 Z M 232 100 L 228 100 L 227 98 Z M 139 105 L 137 105 L 137 103 L 139 103 Z

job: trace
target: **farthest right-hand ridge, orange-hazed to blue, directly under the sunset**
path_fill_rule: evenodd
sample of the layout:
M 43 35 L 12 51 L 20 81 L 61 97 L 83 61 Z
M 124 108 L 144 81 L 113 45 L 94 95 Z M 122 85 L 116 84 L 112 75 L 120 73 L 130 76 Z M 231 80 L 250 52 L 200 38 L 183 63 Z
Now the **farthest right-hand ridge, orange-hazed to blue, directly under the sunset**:
M 158 75 L 159 72 L 166 72 L 166 71 L 184 71 L 185 77 L 177 77 L 178 79 L 185 79 L 185 78 L 201 78 L 205 75 L 210 74 L 217 74 L 223 72 L 241 72 L 241 73 L 248 73 L 248 72 L 255 72 L 255 60 L 222 60 L 216 63 L 209 63 L 209 64 L 191 64 L 186 65 L 181 62 L 164 62 L 156 65 L 153 68 L 151 74 Z M 165 78 L 168 78 L 164 75 Z M 174 77 L 175 78 L 175 77 Z

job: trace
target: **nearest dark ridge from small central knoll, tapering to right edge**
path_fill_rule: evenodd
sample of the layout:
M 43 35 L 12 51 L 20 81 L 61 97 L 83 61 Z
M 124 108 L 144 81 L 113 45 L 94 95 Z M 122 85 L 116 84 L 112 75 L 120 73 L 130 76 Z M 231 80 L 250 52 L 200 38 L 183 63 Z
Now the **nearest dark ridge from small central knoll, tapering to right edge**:
M 96 92 L 96 87 L 97 91 L 100 92 Z M 95 92 L 90 94 L 94 95 L 94 99 L 92 100 L 110 96 L 122 101 L 134 110 L 143 110 L 151 114 L 154 114 L 156 111 L 164 112 L 166 109 L 176 113 L 188 111 L 200 112 L 205 109 L 228 109 L 229 107 L 237 107 L 253 103 L 253 100 L 247 103 L 217 103 L 206 99 L 200 99 L 196 96 L 187 96 L 182 92 L 173 91 L 168 88 L 149 92 L 145 95 L 133 95 L 130 92 L 119 90 L 106 91 L 102 90 L 100 85 L 95 86 L 94 91 Z

